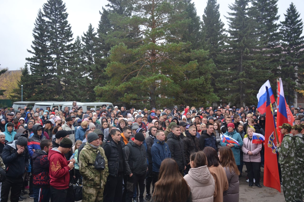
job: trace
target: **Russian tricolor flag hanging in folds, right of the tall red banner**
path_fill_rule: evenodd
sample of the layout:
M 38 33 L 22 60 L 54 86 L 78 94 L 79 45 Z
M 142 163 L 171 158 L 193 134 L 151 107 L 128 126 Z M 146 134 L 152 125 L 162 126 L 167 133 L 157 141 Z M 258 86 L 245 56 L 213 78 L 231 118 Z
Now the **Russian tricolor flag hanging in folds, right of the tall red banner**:
M 295 118 L 292 116 L 291 110 L 286 103 L 284 96 L 284 89 L 282 84 L 282 79 L 280 78 L 278 86 L 278 110 L 277 110 L 277 127 L 282 126 L 283 123 L 289 123 L 292 126 Z M 279 141 L 282 142 L 283 135 L 281 135 L 281 130 L 278 130 Z

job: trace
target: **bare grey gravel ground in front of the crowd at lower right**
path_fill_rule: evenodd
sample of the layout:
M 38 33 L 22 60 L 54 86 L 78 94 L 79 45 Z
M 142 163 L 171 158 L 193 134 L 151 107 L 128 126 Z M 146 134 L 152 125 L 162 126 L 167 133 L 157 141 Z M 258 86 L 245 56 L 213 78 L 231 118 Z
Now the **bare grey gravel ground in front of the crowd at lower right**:
M 269 187 L 263 186 L 263 177 L 264 177 L 264 168 L 261 168 L 261 186 L 262 188 L 253 186 L 249 187 L 249 183 L 246 182 L 246 166 L 243 168 L 243 176 L 240 177 L 240 202 L 284 202 L 284 194 L 283 188 L 281 187 L 281 193 L 277 190 Z M 152 191 L 152 186 L 151 186 Z M 146 194 L 146 193 L 145 193 Z M 33 199 L 30 199 L 28 195 L 26 195 L 26 199 L 23 200 L 25 202 L 33 202 Z M 107 201 L 105 201 L 107 202 Z

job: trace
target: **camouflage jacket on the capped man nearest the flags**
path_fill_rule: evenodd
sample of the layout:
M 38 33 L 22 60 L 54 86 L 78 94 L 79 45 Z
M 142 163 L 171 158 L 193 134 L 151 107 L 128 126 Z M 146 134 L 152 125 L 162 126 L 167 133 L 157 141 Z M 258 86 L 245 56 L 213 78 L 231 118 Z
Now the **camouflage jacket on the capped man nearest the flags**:
M 289 133 L 284 135 L 281 146 L 278 147 L 279 163 L 282 166 L 295 165 L 295 140 L 294 136 Z

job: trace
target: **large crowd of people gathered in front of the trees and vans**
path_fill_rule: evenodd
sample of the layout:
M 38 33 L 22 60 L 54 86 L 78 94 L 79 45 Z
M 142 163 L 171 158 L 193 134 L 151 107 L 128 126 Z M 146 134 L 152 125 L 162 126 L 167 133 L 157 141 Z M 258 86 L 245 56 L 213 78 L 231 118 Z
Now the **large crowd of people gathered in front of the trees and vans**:
M 294 183 L 303 184 L 295 176 L 304 173 L 304 110 L 291 109 L 295 125 L 280 126 L 285 136 L 277 154 L 286 201 L 297 201 L 304 187 L 293 189 Z M 74 201 L 77 184 L 84 202 L 236 202 L 244 164 L 249 186 L 261 187 L 264 145 L 252 139 L 264 135 L 265 115 L 255 106 L 126 110 L 103 105 L 84 111 L 74 102 L 71 110 L 1 110 L 0 167 L 6 174 L 1 201 L 8 201 L 9 192 L 10 201 L 25 194 L 35 202 Z

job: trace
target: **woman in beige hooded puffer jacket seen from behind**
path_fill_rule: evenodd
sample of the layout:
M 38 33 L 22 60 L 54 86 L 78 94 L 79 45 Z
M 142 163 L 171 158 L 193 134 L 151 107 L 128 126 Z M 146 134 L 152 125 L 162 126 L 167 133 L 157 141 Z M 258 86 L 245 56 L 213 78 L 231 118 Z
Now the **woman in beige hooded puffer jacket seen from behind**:
M 192 153 L 190 166 L 184 179 L 190 187 L 192 201 L 212 202 L 213 197 L 216 196 L 215 182 L 208 169 L 205 153 L 202 151 Z

